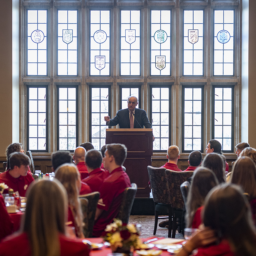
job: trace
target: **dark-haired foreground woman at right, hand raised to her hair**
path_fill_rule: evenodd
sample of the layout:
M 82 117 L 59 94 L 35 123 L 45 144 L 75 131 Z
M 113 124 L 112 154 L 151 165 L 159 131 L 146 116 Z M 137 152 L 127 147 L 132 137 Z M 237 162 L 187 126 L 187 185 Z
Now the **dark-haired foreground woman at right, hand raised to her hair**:
M 221 184 L 206 197 L 203 221 L 205 228 L 196 233 L 177 256 L 256 255 L 256 231 L 248 200 L 240 187 Z

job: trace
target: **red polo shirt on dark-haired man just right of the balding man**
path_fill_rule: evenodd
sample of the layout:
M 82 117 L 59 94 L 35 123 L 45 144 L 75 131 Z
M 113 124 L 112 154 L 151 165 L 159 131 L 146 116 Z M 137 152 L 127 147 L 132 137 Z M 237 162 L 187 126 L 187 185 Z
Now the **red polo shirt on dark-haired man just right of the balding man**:
M 100 186 L 103 183 L 103 180 L 109 176 L 109 172 L 104 171 L 101 168 L 94 169 L 89 173 L 89 176 L 83 179 L 82 181 L 89 185 L 92 192 L 99 191 Z

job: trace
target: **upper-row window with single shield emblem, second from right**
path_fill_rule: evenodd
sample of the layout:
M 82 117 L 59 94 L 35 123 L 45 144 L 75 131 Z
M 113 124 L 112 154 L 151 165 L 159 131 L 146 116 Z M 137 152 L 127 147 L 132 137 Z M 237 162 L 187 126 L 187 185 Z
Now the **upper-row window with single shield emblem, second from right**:
M 183 75 L 203 76 L 204 11 L 184 10 L 183 18 Z

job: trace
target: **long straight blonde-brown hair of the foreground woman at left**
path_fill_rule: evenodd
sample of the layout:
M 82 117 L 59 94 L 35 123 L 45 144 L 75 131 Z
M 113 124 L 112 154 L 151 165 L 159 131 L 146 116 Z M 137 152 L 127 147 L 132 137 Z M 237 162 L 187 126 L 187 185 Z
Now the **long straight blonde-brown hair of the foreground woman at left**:
M 59 256 L 59 233 L 65 234 L 67 192 L 57 180 L 31 184 L 21 231 L 26 232 L 33 256 Z

